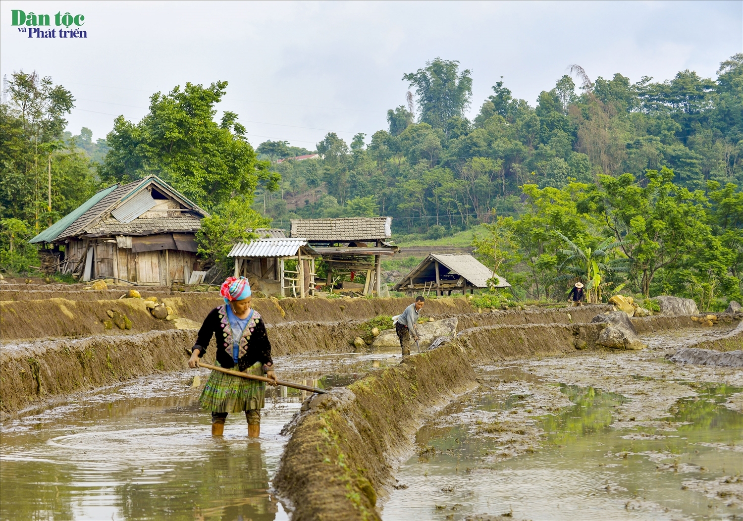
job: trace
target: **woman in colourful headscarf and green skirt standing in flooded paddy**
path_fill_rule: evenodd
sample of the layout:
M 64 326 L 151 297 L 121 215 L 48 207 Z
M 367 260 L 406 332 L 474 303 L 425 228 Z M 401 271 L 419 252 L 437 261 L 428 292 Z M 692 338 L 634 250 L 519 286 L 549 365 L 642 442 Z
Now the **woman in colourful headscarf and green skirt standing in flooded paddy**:
M 230 276 L 220 290 L 224 305 L 212 309 L 198 331 L 189 367 L 198 367 L 198 359 L 207 352 L 216 337 L 215 365 L 249 375 L 266 375 L 276 382 L 271 359 L 271 344 L 266 326 L 258 311 L 250 308 L 250 282 L 241 276 Z M 276 385 L 276 384 L 272 384 Z M 261 432 L 261 409 L 265 405 L 265 384 L 239 376 L 212 371 L 198 398 L 201 407 L 212 412 L 212 436 L 222 436 L 224 421 L 230 412 L 245 412 L 247 436 L 258 438 Z

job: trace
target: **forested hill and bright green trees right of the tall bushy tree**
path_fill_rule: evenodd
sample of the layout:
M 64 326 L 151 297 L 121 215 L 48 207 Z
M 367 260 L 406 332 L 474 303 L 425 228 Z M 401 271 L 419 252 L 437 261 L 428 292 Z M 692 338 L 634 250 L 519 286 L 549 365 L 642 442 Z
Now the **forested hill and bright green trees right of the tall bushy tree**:
M 740 298 L 743 54 L 716 80 L 571 71 L 580 94 L 565 75 L 531 107 L 497 82 L 470 121 L 470 71 L 435 59 L 403 76 L 417 110 L 409 96 L 368 141 L 331 132 L 321 160 L 274 162 L 281 196 L 262 194 L 256 210 L 285 227 L 392 216 L 403 242 L 480 226 L 480 259 L 532 298 L 564 299 L 577 280 L 594 299 L 671 293 L 714 308 Z

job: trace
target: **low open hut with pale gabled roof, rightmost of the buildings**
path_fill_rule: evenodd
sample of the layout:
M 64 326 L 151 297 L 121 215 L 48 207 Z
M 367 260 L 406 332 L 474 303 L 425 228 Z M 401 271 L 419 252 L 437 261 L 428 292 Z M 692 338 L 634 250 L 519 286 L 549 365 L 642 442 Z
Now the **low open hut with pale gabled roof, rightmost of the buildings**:
M 511 287 L 506 279 L 494 274 L 471 255 L 429 253 L 409 274 L 403 276 L 394 289 L 406 292 L 436 291 L 439 296 L 444 291 L 452 294 L 452 291 L 461 290 L 464 295 L 468 289 L 473 293 L 475 288 L 487 288 L 488 279 L 493 277 L 498 279 L 494 287 Z

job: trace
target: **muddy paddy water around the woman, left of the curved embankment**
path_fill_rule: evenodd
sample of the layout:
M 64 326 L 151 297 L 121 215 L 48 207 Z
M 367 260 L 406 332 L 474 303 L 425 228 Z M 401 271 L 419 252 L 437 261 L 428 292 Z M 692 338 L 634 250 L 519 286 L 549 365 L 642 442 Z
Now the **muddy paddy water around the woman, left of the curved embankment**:
M 320 387 L 348 384 L 393 354 L 280 357 L 279 376 Z M 208 371 L 201 370 L 201 386 Z M 230 415 L 210 436 L 194 372 L 155 375 L 78 395 L 2 426 L 2 520 L 286 520 L 270 481 L 279 433 L 305 397 L 274 390 L 261 438 Z M 286 389 L 286 388 L 279 388 Z

